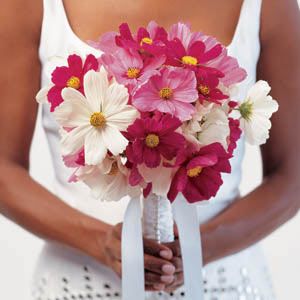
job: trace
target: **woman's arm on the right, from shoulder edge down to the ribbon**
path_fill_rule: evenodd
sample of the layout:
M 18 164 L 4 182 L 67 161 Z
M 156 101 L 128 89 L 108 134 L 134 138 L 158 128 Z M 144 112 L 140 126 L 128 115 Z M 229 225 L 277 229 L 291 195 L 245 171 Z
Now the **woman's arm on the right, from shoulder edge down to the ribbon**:
M 250 25 L 250 24 L 249 24 Z M 264 0 L 258 78 L 267 80 L 279 111 L 262 147 L 264 181 L 201 226 L 205 263 L 266 237 L 300 206 L 300 15 L 296 0 Z

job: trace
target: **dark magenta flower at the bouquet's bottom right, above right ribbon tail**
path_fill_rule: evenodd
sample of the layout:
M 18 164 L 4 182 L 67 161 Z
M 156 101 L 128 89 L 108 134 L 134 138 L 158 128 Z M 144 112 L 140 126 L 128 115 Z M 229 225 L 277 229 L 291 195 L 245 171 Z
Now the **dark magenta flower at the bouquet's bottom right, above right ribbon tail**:
M 213 143 L 194 152 L 191 147 L 177 155 L 180 166 L 175 174 L 168 198 L 173 202 L 181 192 L 188 202 L 208 200 L 215 196 L 223 181 L 221 172 L 230 173 L 229 155 L 220 143 Z

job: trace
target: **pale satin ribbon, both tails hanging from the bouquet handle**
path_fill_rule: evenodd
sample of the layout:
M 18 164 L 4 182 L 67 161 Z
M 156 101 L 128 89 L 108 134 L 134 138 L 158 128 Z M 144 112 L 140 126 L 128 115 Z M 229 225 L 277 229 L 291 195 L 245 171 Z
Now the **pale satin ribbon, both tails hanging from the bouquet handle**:
M 197 207 L 188 204 L 180 194 L 172 204 L 172 209 L 178 227 L 187 299 L 203 300 L 203 263 Z M 122 231 L 123 300 L 144 300 L 146 297 L 141 212 L 141 199 L 131 199 Z

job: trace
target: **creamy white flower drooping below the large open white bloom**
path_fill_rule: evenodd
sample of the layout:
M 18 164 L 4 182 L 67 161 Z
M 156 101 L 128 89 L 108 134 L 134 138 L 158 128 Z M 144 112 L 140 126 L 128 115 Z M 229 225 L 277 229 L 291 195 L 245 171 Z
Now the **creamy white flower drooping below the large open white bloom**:
M 97 166 L 85 166 L 77 170 L 76 176 L 91 189 L 92 196 L 101 201 L 119 201 L 129 195 L 141 194 L 139 187 L 128 183 L 128 169 L 120 157 L 109 157 Z

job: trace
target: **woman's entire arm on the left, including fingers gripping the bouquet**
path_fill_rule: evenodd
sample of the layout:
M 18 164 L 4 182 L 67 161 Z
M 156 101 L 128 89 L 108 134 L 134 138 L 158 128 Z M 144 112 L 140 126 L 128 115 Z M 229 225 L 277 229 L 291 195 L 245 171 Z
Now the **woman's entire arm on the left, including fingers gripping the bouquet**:
M 1 2 L 0 212 L 42 238 L 93 256 L 121 275 L 121 224 L 110 226 L 71 208 L 28 173 L 35 94 L 40 87 L 41 3 Z M 181 274 L 180 261 L 170 262 L 168 247 L 145 240 L 144 248 L 149 289 L 153 284 L 164 288 L 173 280 L 175 267 Z

